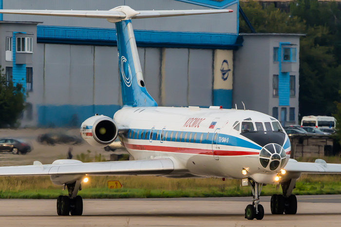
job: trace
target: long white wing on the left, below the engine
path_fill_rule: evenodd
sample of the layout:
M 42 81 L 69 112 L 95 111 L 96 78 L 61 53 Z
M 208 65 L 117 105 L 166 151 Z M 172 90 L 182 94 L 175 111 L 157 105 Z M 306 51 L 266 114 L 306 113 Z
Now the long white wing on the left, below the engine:
M 165 175 L 174 170 L 169 158 L 151 160 L 132 160 L 115 162 L 88 162 L 77 160 L 57 160 L 53 164 L 42 165 L 35 161 L 30 166 L 0 167 L 0 176 L 38 176 L 38 175 Z

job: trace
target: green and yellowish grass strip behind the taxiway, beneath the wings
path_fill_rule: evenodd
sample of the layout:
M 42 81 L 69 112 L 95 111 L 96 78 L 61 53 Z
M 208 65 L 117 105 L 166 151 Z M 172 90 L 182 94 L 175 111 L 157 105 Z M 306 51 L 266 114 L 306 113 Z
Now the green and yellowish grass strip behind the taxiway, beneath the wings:
M 87 159 L 87 157 L 84 157 Z M 98 157 L 101 159 L 101 157 Z M 310 161 L 314 161 L 315 159 Z M 307 159 L 302 161 L 309 161 Z M 339 157 L 328 157 L 329 163 L 341 163 Z M 123 188 L 108 189 L 108 180 L 119 180 Z M 83 198 L 173 198 L 173 197 L 229 197 L 250 196 L 249 187 L 240 187 L 240 180 L 216 178 L 170 179 L 156 176 L 90 176 L 82 184 L 79 195 Z M 56 199 L 62 186 L 52 184 L 49 176 L 0 177 L 0 198 Z M 282 189 L 275 185 L 263 187 L 261 195 L 280 194 Z M 303 174 L 293 191 L 303 194 L 341 194 L 341 175 Z

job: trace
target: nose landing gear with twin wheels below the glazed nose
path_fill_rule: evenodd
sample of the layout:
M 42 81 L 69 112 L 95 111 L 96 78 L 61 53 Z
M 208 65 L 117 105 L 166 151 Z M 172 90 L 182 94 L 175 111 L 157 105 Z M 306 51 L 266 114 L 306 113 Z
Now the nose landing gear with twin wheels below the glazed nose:
M 253 220 L 254 218 L 262 220 L 264 217 L 264 208 L 261 204 L 259 204 L 259 196 L 261 195 L 263 184 L 250 180 L 250 186 L 253 199 L 252 205 L 249 204 L 245 208 L 245 218 L 248 220 Z

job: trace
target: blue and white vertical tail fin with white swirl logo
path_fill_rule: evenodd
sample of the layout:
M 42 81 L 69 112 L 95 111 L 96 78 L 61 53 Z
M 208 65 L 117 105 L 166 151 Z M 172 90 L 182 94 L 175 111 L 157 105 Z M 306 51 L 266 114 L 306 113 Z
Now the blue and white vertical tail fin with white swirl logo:
M 157 106 L 145 87 L 132 20 L 118 21 L 115 25 L 123 106 Z

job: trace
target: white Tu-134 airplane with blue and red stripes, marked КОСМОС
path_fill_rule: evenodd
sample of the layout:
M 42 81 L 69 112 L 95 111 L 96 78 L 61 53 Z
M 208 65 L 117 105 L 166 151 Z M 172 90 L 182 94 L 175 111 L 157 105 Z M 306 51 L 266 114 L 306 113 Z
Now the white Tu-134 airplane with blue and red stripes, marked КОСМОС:
M 58 215 L 81 215 L 81 182 L 88 175 L 155 175 L 170 178 L 242 179 L 250 185 L 252 205 L 245 217 L 261 220 L 262 186 L 281 185 L 283 194 L 272 195 L 272 214 L 296 214 L 292 194 L 301 173 L 341 173 L 341 165 L 290 159 L 290 141 L 278 120 L 248 110 L 221 107 L 157 107 L 142 76 L 131 19 L 171 17 L 232 10 L 135 11 L 119 6 L 109 11 L 0 10 L 0 13 L 104 18 L 114 22 L 117 33 L 123 108 L 114 118 L 92 116 L 81 125 L 89 144 L 105 147 L 118 136 L 134 160 L 82 163 L 56 160 L 51 165 L 0 167 L 0 176 L 50 175 L 54 184 L 67 187 L 69 196 L 57 199 Z

